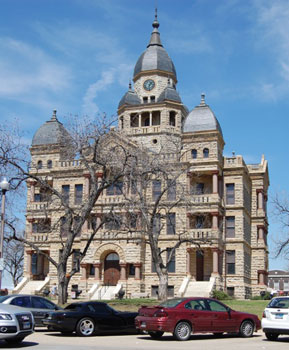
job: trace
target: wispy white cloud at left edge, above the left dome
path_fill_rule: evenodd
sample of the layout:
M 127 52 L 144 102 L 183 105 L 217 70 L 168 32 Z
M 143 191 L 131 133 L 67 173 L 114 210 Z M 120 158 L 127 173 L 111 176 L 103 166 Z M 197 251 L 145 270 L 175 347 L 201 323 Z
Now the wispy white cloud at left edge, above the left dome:
M 25 100 L 39 89 L 57 93 L 69 85 L 71 72 L 41 49 L 12 38 L 0 38 L 0 97 Z M 35 99 L 34 102 L 36 103 Z

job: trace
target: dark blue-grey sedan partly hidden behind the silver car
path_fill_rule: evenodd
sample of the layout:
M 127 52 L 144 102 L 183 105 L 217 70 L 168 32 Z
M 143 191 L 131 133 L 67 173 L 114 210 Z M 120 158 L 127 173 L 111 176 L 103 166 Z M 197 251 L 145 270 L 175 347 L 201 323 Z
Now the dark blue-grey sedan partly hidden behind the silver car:
M 19 306 L 26 311 L 31 311 L 34 317 L 36 327 L 43 327 L 42 319 L 56 310 L 62 310 L 62 308 L 52 301 L 29 294 L 11 294 L 0 296 L 0 303 L 7 305 Z

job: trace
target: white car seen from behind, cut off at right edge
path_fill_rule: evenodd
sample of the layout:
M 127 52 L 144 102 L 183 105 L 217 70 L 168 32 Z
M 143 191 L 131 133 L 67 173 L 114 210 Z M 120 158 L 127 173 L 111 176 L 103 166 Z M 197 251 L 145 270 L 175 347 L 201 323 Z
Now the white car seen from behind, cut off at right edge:
M 273 298 L 263 312 L 262 329 L 268 340 L 289 334 L 289 297 Z

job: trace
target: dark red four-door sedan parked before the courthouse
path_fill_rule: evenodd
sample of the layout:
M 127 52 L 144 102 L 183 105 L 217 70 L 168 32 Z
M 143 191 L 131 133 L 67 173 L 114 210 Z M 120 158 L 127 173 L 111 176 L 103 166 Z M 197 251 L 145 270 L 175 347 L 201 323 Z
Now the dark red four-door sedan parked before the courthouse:
M 178 298 L 158 306 L 143 306 L 135 318 L 135 325 L 152 338 L 170 332 L 177 340 L 188 340 L 191 333 L 219 336 L 229 332 L 251 337 L 254 331 L 261 329 L 258 316 L 232 310 L 211 298 Z

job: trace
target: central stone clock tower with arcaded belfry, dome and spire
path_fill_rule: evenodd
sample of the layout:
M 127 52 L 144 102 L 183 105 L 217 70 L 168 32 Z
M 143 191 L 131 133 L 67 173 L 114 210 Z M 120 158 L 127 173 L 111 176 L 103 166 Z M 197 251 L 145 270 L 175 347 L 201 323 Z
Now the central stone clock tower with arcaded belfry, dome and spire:
M 164 49 L 157 11 L 146 50 L 134 68 L 133 83 L 118 106 L 119 129 L 153 151 L 175 152 L 188 114 L 176 90 L 173 61 Z

